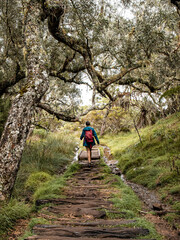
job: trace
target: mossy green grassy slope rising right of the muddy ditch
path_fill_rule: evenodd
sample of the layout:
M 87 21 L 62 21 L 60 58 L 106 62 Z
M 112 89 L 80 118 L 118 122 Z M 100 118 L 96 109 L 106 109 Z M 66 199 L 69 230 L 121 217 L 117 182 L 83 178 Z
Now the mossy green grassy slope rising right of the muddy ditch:
M 127 179 L 159 192 L 161 198 L 180 212 L 180 113 L 140 130 L 106 135 L 101 143 L 111 148 Z M 167 218 L 176 218 L 171 216 Z

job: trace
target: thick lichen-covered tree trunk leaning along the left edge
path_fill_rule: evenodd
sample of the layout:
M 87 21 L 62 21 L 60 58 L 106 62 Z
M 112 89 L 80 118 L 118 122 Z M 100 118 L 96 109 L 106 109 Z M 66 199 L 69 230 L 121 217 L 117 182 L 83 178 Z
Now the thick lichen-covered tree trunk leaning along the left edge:
M 16 96 L 0 140 L 0 197 L 8 199 L 16 180 L 36 104 L 48 88 L 46 53 L 41 36 L 41 1 L 27 1 L 24 40 L 27 85 Z

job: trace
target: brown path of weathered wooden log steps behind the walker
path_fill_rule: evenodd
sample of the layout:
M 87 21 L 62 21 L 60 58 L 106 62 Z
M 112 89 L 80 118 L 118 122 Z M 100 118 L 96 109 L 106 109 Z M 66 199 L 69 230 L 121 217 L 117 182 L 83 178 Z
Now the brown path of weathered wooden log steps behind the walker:
M 111 190 L 102 179 L 102 167 L 99 160 L 81 162 L 81 169 L 68 181 L 64 188 L 66 198 L 39 200 L 37 205 L 52 203 L 44 207 L 39 217 L 50 220 L 50 225 L 36 225 L 34 236 L 28 240 L 115 240 L 146 239 L 149 230 L 139 227 L 127 227 L 135 220 L 107 217 L 107 211 L 119 214 L 110 199 Z M 110 192 L 111 191 L 111 192 Z M 144 238 L 143 238 L 144 236 Z

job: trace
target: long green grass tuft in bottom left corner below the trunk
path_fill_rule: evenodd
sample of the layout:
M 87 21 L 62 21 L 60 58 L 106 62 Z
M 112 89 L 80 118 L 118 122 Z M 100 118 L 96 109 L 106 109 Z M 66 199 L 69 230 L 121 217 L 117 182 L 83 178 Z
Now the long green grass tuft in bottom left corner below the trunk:
M 12 229 L 18 219 L 27 218 L 30 214 L 30 207 L 23 202 L 11 200 L 0 209 L 0 235 Z

